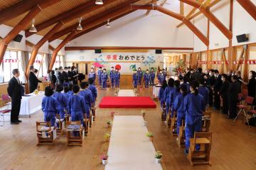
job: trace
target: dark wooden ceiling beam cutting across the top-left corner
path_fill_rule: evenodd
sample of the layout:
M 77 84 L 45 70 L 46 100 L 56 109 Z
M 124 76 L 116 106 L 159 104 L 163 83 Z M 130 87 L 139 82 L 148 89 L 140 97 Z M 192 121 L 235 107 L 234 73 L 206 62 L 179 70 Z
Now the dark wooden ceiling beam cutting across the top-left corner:
M 36 4 L 38 4 L 40 1 L 43 1 L 43 0 L 34 0 L 34 1 L 23 0 L 6 9 L 2 9 L 0 11 L 0 24 L 6 21 L 9 21 L 12 18 L 17 17 L 25 13 L 26 11 L 29 11 L 34 6 L 36 6 Z

